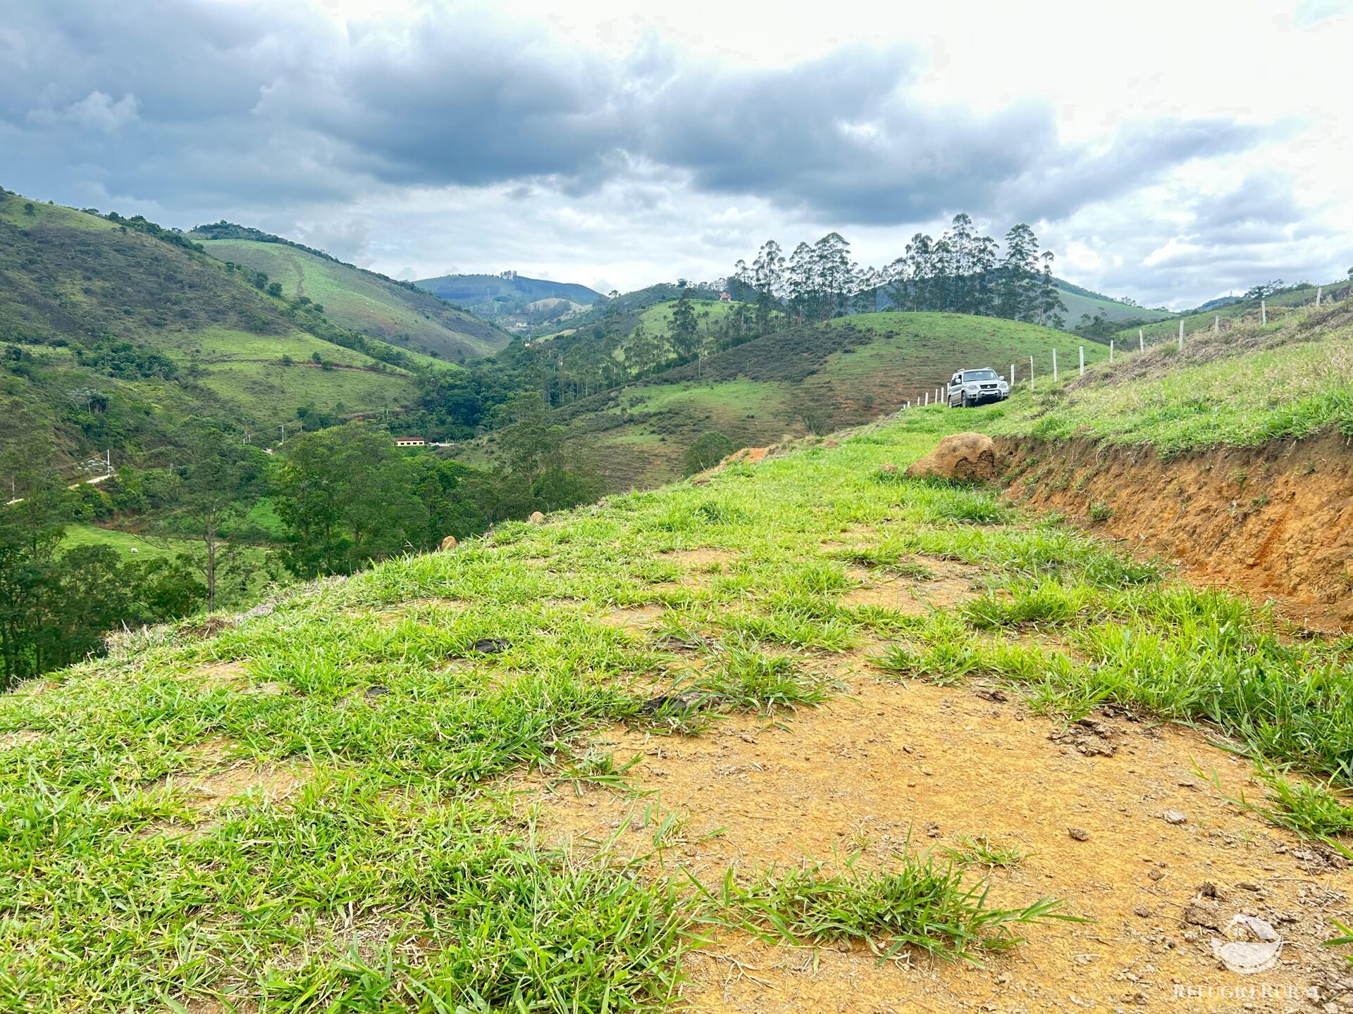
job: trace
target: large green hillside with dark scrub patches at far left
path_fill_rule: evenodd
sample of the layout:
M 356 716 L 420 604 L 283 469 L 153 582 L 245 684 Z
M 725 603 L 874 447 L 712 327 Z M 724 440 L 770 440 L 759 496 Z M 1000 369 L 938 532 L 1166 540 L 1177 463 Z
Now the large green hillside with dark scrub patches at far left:
M 235 427 L 379 411 L 432 360 L 258 288 L 181 234 L 0 195 L 0 411 L 55 461 L 172 442 L 184 415 Z

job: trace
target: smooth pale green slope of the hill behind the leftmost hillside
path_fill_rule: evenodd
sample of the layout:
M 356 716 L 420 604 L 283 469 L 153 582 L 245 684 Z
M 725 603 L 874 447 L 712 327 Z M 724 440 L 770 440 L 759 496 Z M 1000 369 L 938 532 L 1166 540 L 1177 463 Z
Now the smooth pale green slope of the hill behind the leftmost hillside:
M 488 356 L 507 343 L 497 327 L 407 283 L 265 237 L 223 238 L 238 226 L 199 226 L 189 238 L 208 254 L 264 272 L 287 299 L 306 296 L 342 327 L 444 360 Z

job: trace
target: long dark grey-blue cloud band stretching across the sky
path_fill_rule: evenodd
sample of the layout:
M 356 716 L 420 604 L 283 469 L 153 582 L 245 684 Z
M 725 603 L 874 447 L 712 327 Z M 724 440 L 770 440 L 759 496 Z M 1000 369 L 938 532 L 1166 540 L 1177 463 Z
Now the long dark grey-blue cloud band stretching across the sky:
M 666 173 L 823 220 L 1061 218 L 1253 135 L 1154 124 L 1059 143 L 1047 104 L 925 104 L 923 58 L 840 50 L 789 68 L 626 59 L 446 8 L 350 31 L 304 5 L 20 3 L 0 28 L 0 173 L 19 189 L 214 207 L 352 200 L 372 187 L 566 195 Z

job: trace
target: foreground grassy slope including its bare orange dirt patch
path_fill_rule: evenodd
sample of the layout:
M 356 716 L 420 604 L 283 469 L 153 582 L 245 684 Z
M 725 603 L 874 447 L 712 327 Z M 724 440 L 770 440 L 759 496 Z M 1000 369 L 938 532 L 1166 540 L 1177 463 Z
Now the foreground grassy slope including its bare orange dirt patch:
M 1218 973 L 1206 933 L 1084 959 L 1204 882 L 1291 913 L 1273 988 L 1337 980 L 1353 884 L 1276 787 L 1348 841 L 1346 644 L 901 476 L 965 420 L 503 525 L 0 696 L 0 1007 L 1073 1009 L 1147 964 L 1164 1007 Z

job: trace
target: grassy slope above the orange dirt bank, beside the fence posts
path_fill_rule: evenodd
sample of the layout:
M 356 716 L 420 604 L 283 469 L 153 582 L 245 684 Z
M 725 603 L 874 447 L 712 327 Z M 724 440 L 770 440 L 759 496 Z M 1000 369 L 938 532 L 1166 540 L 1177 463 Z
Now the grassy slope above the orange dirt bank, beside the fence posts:
M 1085 384 L 1022 392 L 988 431 L 1143 443 L 1165 454 L 1254 446 L 1325 429 L 1353 433 L 1353 319 L 1299 308 L 1268 329 L 1235 327 L 1101 364 Z

